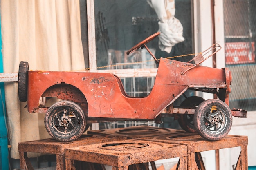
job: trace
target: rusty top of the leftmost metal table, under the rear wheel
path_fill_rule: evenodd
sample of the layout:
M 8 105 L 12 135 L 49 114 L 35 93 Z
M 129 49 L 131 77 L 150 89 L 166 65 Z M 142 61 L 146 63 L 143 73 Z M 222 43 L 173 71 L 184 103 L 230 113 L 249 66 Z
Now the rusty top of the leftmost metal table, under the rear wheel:
M 37 152 L 64 155 L 65 148 L 124 139 L 127 138 L 114 135 L 81 135 L 81 137 L 71 142 L 60 142 L 53 138 L 20 142 L 18 143 L 18 148 L 19 152 Z

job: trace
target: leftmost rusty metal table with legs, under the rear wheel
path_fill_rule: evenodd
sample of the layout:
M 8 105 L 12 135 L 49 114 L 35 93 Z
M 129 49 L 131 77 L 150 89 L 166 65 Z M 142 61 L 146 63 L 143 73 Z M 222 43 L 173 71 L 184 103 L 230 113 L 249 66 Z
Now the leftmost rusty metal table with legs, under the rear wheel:
M 20 153 L 20 168 L 34 170 L 27 157 L 27 152 L 46 153 L 56 155 L 56 170 L 65 170 L 65 148 L 85 146 L 88 144 L 102 143 L 106 141 L 124 140 L 126 137 L 114 135 L 82 135 L 75 141 L 60 142 L 55 139 L 42 139 L 36 141 L 25 141 L 18 143 Z

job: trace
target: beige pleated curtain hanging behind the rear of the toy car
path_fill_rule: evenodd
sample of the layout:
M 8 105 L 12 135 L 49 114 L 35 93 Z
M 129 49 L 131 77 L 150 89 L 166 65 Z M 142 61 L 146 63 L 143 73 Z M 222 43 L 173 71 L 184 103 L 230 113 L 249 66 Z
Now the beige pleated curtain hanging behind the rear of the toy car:
M 79 0 L 1 0 L 1 28 L 5 73 L 18 72 L 20 61 L 31 70 L 85 68 Z M 5 83 L 5 95 L 11 157 L 19 159 L 18 142 L 49 135 L 44 114 L 30 114 L 19 102 L 17 82 Z

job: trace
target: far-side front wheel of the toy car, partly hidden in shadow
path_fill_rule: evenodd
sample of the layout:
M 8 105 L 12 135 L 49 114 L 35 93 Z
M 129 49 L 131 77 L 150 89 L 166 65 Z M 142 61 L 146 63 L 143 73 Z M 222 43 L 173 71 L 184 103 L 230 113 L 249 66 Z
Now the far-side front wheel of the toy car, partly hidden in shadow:
M 190 107 L 190 108 L 197 108 L 200 103 L 204 102 L 202 97 L 198 96 L 191 96 L 186 98 L 180 106 Z M 194 125 L 194 115 L 182 114 L 178 119 L 180 127 L 185 130 L 186 132 L 195 133 L 195 125 Z

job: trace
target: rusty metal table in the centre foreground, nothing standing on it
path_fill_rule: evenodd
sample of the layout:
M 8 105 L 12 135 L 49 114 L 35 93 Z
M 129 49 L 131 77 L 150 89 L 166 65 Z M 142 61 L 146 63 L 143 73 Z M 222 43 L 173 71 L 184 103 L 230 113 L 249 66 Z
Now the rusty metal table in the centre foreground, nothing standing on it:
M 180 170 L 186 170 L 185 145 L 127 139 L 65 149 L 66 170 L 74 169 L 73 160 L 109 165 L 112 170 L 128 170 L 130 165 L 175 157 L 180 157 Z

